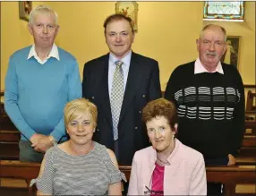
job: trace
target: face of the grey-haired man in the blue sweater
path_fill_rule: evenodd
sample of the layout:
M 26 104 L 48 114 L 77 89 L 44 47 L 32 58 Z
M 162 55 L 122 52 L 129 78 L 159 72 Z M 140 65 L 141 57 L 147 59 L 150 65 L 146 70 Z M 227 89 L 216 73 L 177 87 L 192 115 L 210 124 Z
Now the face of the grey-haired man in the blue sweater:
M 29 24 L 30 34 L 34 37 L 36 47 L 52 47 L 59 26 L 55 25 L 55 16 L 51 13 L 38 13 Z

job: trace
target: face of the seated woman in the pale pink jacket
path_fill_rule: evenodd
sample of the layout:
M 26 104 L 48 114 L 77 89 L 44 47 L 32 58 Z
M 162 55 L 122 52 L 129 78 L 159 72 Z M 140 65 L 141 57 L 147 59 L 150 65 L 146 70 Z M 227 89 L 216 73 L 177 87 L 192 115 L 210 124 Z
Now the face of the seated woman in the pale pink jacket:
M 147 122 L 146 125 L 149 141 L 152 143 L 154 149 L 162 152 L 173 144 L 175 130 L 171 129 L 166 117 L 156 116 L 151 121 Z

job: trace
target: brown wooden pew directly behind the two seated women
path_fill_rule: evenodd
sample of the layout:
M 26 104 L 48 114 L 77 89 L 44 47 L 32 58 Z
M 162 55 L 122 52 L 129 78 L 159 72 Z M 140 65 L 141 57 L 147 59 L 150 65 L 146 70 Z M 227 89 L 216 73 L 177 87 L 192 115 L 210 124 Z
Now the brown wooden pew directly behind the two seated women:
M 0 161 L 0 177 L 25 179 L 29 182 L 37 178 L 40 164 L 21 163 L 20 161 Z M 130 179 L 131 166 L 119 166 L 119 169 L 125 174 L 127 180 Z M 235 195 L 235 184 L 237 183 L 255 183 L 256 166 L 213 166 L 207 167 L 208 182 L 225 183 L 226 196 Z M 30 191 L 29 191 L 30 190 Z M 29 189 L 30 195 L 35 194 Z M 1 190 L 0 190 L 1 191 Z

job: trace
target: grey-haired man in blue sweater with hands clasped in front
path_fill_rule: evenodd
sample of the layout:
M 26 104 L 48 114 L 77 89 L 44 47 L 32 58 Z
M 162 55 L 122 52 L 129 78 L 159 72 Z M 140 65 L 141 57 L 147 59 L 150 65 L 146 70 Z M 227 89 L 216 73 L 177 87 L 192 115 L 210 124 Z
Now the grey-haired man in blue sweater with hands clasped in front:
M 20 160 L 41 162 L 55 142 L 66 140 L 64 106 L 81 98 L 81 79 L 73 55 L 55 46 L 57 14 L 46 5 L 30 13 L 34 45 L 10 57 L 4 108 L 21 132 Z

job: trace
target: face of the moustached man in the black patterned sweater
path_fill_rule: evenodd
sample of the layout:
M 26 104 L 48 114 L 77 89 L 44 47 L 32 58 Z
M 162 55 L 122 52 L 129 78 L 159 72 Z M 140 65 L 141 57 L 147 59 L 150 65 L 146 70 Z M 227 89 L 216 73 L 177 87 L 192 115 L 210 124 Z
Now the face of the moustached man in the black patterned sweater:
M 211 27 L 197 39 L 197 50 L 201 64 L 212 72 L 226 51 L 225 34 L 218 27 Z

